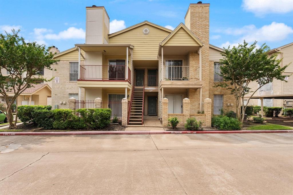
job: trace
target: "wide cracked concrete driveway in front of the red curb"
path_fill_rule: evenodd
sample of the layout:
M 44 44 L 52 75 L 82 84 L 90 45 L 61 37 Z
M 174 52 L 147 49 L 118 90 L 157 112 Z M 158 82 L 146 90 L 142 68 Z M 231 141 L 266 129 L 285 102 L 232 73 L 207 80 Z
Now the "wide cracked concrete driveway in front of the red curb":
M 293 133 L 1 136 L 1 194 L 292 194 Z

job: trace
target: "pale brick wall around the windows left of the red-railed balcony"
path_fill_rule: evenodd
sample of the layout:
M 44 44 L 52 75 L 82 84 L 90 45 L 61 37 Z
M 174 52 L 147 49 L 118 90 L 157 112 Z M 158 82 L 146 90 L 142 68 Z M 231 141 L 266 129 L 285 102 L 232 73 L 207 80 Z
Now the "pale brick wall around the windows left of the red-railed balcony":
M 84 61 L 81 61 L 81 65 L 84 65 Z M 79 93 L 77 87 L 77 81 L 69 81 L 69 61 L 61 60 L 58 64 L 52 65 L 53 76 L 59 77 L 59 83 L 52 81 L 52 108 L 54 105 L 58 105 L 58 108 L 68 109 L 69 93 Z M 56 69 L 56 71 L 54 70 Z M 84 99 L 84 88 L 81 88 L 81 100 Z M 60 104 L 59 102 L 66 102 L 66 104 Z

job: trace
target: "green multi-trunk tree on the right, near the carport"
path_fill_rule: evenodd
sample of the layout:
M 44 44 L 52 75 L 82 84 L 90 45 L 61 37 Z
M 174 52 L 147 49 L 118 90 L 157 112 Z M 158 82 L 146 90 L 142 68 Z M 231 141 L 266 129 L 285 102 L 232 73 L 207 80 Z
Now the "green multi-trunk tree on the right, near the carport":
M 242 106 L 242 113 L 245 113 L 249 100 L 258 89 L 272 82 L 273 79 L 285 81 L 285 77 L 289 76 L 283 75 L 288 65 L 281 67 L 282 59 L 277 60 L 276 54 L 268 56 L 270 48 L 266 44 L 257 48 L 256 43 L 255 41 L 249 46 L 244 40 L 243 44 L 239 44 L 237 47 L 224 48 L 222 54 L 224 59 L 220 60 L 222 64 L 220 76 L 223 76 L 223 82 L 215 85 L 225 87 L 235 96 L 236 116 L 242 123 L 244 114 L 241 117 L 240 113 L 241 103 L 244 105 L 244 96 L 251 93 L 246 105 Z M 251 82 L 258 83 L 258 88 L 254 91 L 249 87 Z

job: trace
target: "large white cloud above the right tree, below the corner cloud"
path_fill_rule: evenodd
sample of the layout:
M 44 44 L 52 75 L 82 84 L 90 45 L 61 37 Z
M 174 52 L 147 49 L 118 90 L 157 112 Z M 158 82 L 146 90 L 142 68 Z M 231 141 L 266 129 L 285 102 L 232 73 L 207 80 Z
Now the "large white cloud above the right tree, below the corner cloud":
M 227 47 L 229 45 L 237 46 L 238 43 L 243 43 L 243 40 L 248 43 L 253 43 L 254 41 L 260 43 L 267 41 L 282 41 L 293 34 L 293 29 L 284 23 L 272 22 L 270 25 L 264 25 L 260 28 L 256 28 L 254 25 L 249 25 L 239 29 L 235 28 L 231 31 L 224 31 L 224 33 L 229 35 L 241 35 L 241 37 L 233 41 L 233 43 L 227 41 L 226 43 L 223 43 L 221 47 Z

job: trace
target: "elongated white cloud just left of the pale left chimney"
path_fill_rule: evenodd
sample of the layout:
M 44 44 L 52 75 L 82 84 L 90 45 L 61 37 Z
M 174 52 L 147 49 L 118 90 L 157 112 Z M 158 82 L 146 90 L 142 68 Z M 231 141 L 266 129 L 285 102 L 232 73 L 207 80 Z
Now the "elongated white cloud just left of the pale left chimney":
M 84 39 L 86 32 L 82 28 L 69 27 L 67 30 L 61 31 L 58 34 L 46 34 L 46 39 Z

